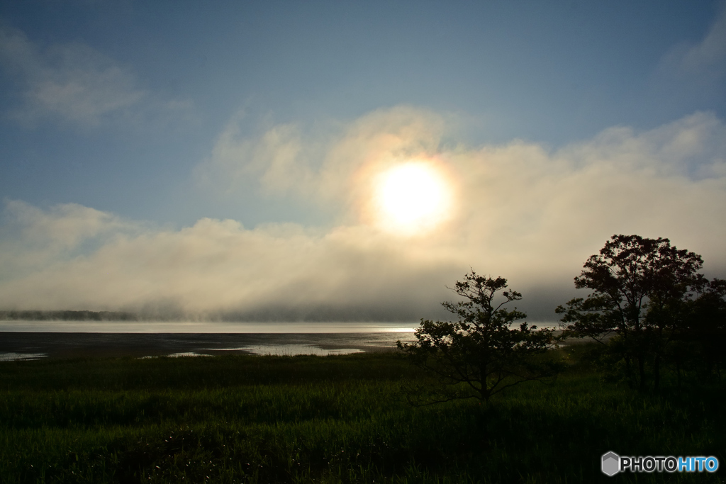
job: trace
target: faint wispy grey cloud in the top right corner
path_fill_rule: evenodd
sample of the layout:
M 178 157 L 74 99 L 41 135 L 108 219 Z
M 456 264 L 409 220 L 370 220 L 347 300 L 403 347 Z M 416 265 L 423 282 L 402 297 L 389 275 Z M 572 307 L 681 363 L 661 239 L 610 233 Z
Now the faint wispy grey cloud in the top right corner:
M 697 87 L 714 87 L 726 79 L 726 2 L 706 36 L 698 42 L 678 44 L 661 60 L 661 71 Z

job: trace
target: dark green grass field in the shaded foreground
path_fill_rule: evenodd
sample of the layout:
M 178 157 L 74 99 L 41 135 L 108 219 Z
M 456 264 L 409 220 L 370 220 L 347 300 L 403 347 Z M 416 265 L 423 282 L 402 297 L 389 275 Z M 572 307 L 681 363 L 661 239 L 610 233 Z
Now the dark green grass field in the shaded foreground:
M 723 385 L 642 395 L 566 358 L 554 383 L 489 406 L 419 408 L 404 388 L 428 377 L 394 353 L 3 362 L 0 480 L 721 482 Z M 606 477 L 606 451 L 714 455 L 722 468 Z

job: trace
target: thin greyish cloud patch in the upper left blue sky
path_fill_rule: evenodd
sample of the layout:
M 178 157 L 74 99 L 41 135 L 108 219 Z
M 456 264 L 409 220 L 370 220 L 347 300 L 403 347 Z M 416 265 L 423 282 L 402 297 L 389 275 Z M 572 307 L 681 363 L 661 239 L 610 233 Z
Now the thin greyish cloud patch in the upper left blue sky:
M 0 64 L 20 82 L 22 100 L 8 115 L 25 126 L 46 119 L 97 126 L 150 105 L 189 110 L 188 102 L 154 101 L 128 68 L 78 42 L 41 49 L 20 30 L 0 27 Z

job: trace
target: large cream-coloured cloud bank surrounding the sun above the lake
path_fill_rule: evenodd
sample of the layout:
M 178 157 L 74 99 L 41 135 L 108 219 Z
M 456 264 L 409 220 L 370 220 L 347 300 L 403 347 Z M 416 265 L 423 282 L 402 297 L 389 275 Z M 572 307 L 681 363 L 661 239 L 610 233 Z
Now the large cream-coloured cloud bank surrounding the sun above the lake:
M 10 232 L 4 260 L 30 259 L 24 238 L 44 263 L 0 284 L 0 307 L 416 320 L 443 316 L 445 284 L 471 267 L 507 277 L 520 308 L 552 320 L 585 259 L 619 233 L 669 237 L 701 253 L 707 275 L 726 276 L 726 126 L 713 114 L 613 127 L 560 149 L 470 147 L 455 142 L 458 122 L 395 107 L 318 136 L 287 124 L 245 137 L 233 120 L 196 176 L 333 206 L 327 229 L 211 218 L 156 229 L 78 205 L 9 202 L 28 228 Z M 376 173 L 410 157 L 445 167 L 456 203 L 439 229 L 403 237 L 378 229 L 365 200 Z M 88 250 L 68 249 L 89 239 Z

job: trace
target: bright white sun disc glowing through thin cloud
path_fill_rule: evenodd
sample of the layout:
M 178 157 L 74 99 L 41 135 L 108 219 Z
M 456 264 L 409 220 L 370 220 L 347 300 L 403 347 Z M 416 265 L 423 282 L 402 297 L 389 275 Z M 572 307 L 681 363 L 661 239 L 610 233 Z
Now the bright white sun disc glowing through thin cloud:
M 422 234 L 450 216 L 451 189 L 435 163 L 399 163 L 380 173 L 374 186 L 378 225 L 386 231 Z

